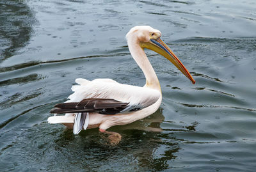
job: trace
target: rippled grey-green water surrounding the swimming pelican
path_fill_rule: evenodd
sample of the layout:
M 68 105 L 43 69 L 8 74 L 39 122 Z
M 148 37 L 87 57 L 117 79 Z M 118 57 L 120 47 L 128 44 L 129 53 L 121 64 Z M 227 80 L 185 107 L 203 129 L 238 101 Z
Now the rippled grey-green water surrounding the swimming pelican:
M 255 171 L 256 2 L 0 1 L 0 171 Z M 47 118 L 77 77 L 143 86 L 125 34 L 159 29 L 196 84 L 147 51 L 159 111 L 117 146 Z M 153 132 L 161 131 L 161 132 Z

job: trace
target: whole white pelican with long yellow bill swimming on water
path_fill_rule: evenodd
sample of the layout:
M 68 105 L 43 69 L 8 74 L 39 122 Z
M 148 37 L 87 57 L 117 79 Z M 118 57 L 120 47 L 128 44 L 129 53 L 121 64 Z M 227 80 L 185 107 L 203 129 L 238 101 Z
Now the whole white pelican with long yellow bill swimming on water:
M 73 128 L 74 134 L 82 129 L 99 127 L 99 131 L 110 134 L 120 141 L 120 134 L 106 129 L 114 125 L 125 125 L 140 120 L 157 111 L 162 101 L 162 93 L 157 75 L 143 51 L 147 48 L 171 61 L 188 77 L 195 80 L 175 54 L 160 39 L 161 32 L 150 26 L 136 26 L 127 33 L 127 43 L 132 58 L 140 66 L 146 77 L 143 87 L 120 84 L 112 79 L 76 79 L 79 85 L 72 86 L 72 95 L 63 104 L 57 104 L 51 113 L 65 113 L 65 116 L 51 116 L 49 123 L 63 123 Z M 114 141 L 115 142 L 115 141 Z

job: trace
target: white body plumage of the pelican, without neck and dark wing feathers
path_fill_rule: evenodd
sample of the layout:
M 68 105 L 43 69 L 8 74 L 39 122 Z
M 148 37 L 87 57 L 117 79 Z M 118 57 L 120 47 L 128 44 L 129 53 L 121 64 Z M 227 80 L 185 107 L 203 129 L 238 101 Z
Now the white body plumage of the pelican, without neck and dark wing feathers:
M 88 81 L 86 79 L 76 79 L 77 84 L 72 86 L 72 95 L 68 97 L 67 102 L 80 102 L 84 98 L 113 98 L 120 102 L 129 102 L 129 106 L 120 114 L 104 115 L 90 113 L 89 127 L 95 125 L 100 129 L 108 129 L 113 125 L 124 125 L 132 121 L 140 120 L 157 111 L 161 104 L 161 92 L 147 86 L 131 86 L 120 84 L 112 79 L 95 79 Z M 152 106 L 156 104 L 155 106 Z M 149 107 L 151 106 L 151 107 Z M 145 108 L 148 107 L 148 108 Z M 141 111 L 127 113 L 134 108 L 140 108 Z M 63 116 L 51 116 L 48 118 L 49 123 L 73 123 L 75 114 L 66 114 L 66 121 L 60 121 Z M 132 117 L 133 116 L 133 117 Z

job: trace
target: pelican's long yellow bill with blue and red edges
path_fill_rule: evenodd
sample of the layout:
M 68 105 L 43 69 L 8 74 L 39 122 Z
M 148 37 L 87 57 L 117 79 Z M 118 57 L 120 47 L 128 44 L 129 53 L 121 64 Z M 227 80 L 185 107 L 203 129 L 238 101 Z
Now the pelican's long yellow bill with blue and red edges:
M 188 69 L 180 62 L 180 60 L 175 56 L 175 54 L 171 51 L 171 49 L 160 39 L 157 38 L 156 40 L 150 39 L 149 42 L 141 42 L 141 48 L 147 48 L 152 51 L 157 52 L 164 56 L 164 58 L 168 59 L 175 65 L 190 81 L 195 84 L 195 79 L 189 74 Z

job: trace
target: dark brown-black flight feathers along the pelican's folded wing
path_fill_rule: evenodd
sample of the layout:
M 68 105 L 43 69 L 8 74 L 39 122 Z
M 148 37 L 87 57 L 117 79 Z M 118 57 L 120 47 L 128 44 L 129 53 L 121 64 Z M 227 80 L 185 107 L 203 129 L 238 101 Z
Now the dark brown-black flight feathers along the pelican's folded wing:
M 127 102 L 120 102 L 108 98 L 86 98 L 81 102 L 56 104 L 50 113 L 100 113 L 117 114 L 128 106 Z

